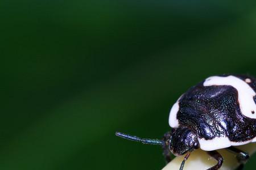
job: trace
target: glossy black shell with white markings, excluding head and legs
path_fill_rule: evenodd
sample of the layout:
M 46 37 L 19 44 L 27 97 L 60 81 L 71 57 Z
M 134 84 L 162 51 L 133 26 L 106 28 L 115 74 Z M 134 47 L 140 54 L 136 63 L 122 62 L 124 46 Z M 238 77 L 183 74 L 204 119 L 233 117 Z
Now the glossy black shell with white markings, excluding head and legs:
M 169 124 L 193 130 L 205 151 L 256 142 L 255 91 L 251 76 L 211 76 L 180 96 Z

